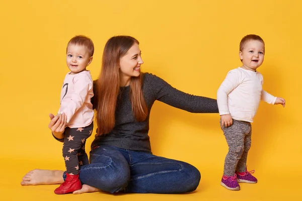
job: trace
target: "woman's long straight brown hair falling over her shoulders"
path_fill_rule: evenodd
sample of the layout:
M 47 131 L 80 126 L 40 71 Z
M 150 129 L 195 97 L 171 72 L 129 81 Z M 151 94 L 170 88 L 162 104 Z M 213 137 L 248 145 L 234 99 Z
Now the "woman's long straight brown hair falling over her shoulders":
M 95 91 L 97 136 L 109 133 L 115 125 L 116 100 L 120 89 L 119 62 L 134 43 L 130 36 L 114 36 L 104 48 L 102 70 Z M 147 117 L 147 106 L 142 94 L 142 74 L 130 79 L 130 101 L 136 121 Z

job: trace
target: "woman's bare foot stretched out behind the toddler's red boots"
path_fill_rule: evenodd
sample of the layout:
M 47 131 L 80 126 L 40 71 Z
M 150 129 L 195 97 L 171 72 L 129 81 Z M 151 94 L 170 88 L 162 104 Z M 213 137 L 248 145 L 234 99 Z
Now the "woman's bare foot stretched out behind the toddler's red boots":
M 34 169 L 25 174 L 21 185 L 61 184 L 64 182 L 63 172 L 62 170 Z

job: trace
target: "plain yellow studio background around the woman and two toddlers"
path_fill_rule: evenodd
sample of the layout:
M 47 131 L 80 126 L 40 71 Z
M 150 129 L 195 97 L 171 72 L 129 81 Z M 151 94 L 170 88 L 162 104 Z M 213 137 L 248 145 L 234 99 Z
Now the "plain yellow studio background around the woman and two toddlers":
M 301 200 L 301 9 L 295 0 L 267 1 L 0 1 L 1 200 Z M 266 54 L 259 71 L 264 89 L 286 107 L 261 103 L 253 123 L 248 168 L 257 184 L 241 190 L 219 182 L 227 153 L 218 114 L 190 114 L 156 102 L 150 118 L 154 154 L 183 160 L 201 172 L 185 195 L 106 193 L 55 195 L 52 186 L 20 185 L 34 168 L 64 169 L 61 143 L 48 129 L 59 108 L 68 68 L 65 47 L 74 35 L 94 41 L 89 66 L 96 79 L 106 41 L 140 41 L 142 71 L 172 86 L 216 98 L 226 73 L 241 65 L 239 43 L 260 35 Z M 88 140 L 87 152 L 90 150 Z

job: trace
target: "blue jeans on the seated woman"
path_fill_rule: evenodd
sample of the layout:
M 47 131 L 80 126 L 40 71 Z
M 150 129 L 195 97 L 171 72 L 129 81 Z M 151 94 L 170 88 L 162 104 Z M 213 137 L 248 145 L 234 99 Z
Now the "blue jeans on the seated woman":
M 90 164 L 80 167 L 80 180 L 111 193 L 185 193 L 197 188 L 200 173 L 182 161 L 102 145 L 90 152 Z

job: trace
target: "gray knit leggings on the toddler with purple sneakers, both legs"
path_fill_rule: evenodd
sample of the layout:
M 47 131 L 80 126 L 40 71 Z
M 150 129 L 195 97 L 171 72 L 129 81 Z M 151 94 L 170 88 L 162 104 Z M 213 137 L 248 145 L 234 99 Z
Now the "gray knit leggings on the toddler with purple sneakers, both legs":
M 251 123 L 233 120 L 229 127 L 221 126 L 229 152 L 224 160 L 223 175 L 234 176 L 235 171 L 246 170 L 248 152 L 251 147 L 252 127 Z

